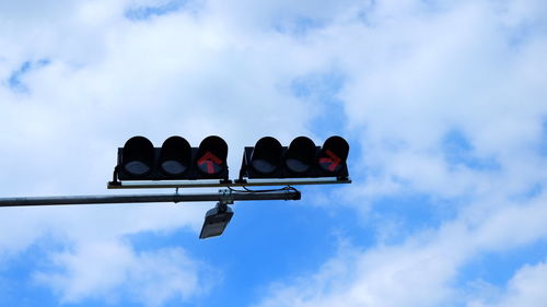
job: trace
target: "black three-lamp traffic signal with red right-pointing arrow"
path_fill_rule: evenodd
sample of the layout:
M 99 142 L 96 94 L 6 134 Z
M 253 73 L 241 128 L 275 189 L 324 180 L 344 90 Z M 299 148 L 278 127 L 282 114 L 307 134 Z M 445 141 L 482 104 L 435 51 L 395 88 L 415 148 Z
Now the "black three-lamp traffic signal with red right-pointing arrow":
M 340 137 L 328 138 L 323 146 L 299 137 L 282 146 L 278 140 L 265 137 L 254 147 L 245 147 L 240 180 L 253 178 L 317 178 L 348 179 L 349 145 Z

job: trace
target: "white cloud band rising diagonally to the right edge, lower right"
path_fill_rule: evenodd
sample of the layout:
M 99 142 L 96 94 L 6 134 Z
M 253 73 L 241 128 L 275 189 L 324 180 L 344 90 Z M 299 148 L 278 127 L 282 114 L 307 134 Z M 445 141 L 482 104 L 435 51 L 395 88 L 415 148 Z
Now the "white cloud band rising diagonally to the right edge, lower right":
M 463 214 L 400 245 L 345 247 L 315 275 L 275 284 L 257 306 L 459 306 L 466 297 L 461 296 L 465 287 L 459 288 L 457 279 L 468 261 L 482 252 L 503 252 L 547 238 L 545 201 L 543 194 L 524 205 L 499 203 L 478 223 L 475 215 Z M 537 298 L 539 291 L 527 291 L 532 282 L 520 281 L 540 273 L 527 271 L 532 270 L 525 267 L 510 282 L 508 300 Z

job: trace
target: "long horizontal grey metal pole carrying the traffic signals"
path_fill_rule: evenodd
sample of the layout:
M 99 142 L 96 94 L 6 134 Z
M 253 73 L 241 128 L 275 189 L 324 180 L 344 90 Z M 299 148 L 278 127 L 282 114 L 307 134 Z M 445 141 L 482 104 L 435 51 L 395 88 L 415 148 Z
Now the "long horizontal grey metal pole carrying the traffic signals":
M 164 193 L 125 196 L 61 196 L 61 197 L 20 197 L 0 198 L 0 206 L 97 204 L 97 203 L 142 203 L 142 202 L 195 202 L 195 201 L 247 201 L 247 200 L 300 200 L 300 191 L 286 189 L 279 191 L 231 191 L 218 193 Z

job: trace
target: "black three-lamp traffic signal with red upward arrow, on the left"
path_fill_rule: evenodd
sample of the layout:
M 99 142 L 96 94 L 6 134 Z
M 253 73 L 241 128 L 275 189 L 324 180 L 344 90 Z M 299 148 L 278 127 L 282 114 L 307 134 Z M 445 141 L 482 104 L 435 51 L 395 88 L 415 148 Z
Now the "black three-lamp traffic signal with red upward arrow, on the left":
M 226 142 L 217 135 L 203 139 L 198 147 L 176 135 L 161 147 L 133 137 L 118 149 L 116 173 L 119 180 L 228 180 L 226 156 Z

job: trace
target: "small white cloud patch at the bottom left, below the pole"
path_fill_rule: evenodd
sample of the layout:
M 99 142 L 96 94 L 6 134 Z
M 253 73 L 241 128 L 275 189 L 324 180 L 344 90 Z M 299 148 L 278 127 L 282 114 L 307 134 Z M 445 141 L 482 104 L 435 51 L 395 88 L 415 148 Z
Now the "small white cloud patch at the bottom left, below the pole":
M 181 248 L 135 252 L 118 241 L 85 241 L 74 249 L 53 255 L 60 272 L 35 274 L 35 281 L 53 287 L 62 303 L 92 297 L 162 306 L 211 286 L 200 272 L 207 268 Z

